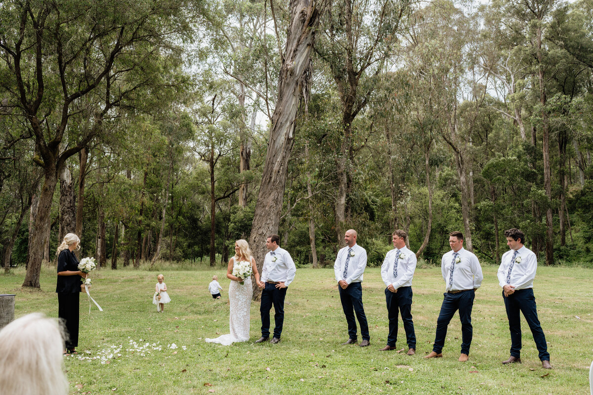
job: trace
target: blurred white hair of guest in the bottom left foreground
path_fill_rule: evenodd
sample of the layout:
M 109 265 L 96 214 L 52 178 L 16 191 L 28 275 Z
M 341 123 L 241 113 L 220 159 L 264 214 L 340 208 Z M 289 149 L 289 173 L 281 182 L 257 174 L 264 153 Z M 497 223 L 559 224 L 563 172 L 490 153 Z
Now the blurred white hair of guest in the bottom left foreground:
M 55 319 L 27 314 L 0 330 L 0 388 L 7 395 L 66 395 L 64 337 Z

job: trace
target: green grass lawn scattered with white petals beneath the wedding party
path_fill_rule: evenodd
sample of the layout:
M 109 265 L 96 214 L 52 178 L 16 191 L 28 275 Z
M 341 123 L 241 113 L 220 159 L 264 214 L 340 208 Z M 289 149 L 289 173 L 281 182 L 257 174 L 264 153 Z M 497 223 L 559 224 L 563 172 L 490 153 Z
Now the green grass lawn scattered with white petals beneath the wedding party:
M 371 346 L 366 348 L 340 345 L 347 339 L 346 320 L 332 269 L 297 269 L 286 295 L 282 342 L 253 343 L 261 325 L 259 303 L 253 303 L 251 341 L 232 346 L 204 342 L 206 337 L 228 333 L 224 268 L 179 271 L 163 267 L 173 300 L 164 314 L 157 314 L 151 303 L 157 272 L 101 269 L 91 274 L 92 294 L 104 311 L 93 305 L 89 314 L 87 298 L 81 295 L 78 356 L 102 356 L 103 362 L 109 363 L 101 363 L 101 358 L 65 358 L 71 393 L 588 394 L 588 368 L 593 358 L 593 271 L 538 268 L 534 291 L 554 367 L 544 371 L 524 320 L 523 363 L 500 364 L 508 358 L 511 339 L 497 268 L 483 268 L 484 282 L 476 293 L 472 314 L 470 361 L 466 363 L 457 361 L 461 343 L 457 314 L 449 325 L 444 358 L 422 358 L 432 349 L 442 302 L 444 282 L 439 268 L 416 270 L 412 314 L 417 354 L 413 357 L 378 351 L 385 345 L 388 331 L 379 268 L 366 269 L 363 283 L 371 329 Z M 20 288 L 23 269 L 0 275 L 1 292 L 17 294 L 15 316 L 33 311 L 57 316 L 54 270 L 43 268 L 42 290 L 33 291 Z M 212 300 L 208 293 L 214 274 L 224 288 L 221 300 Z M 150 346 L 143 352 L 139 348 L 145 343 L 158 343 L 161 349 Z M 178 348 L 167 348 L 170 343 Z M 106 358 L 120 346 L 121 357 L 116 353 Z M 405 346 L 401 324 L 398 346 Z

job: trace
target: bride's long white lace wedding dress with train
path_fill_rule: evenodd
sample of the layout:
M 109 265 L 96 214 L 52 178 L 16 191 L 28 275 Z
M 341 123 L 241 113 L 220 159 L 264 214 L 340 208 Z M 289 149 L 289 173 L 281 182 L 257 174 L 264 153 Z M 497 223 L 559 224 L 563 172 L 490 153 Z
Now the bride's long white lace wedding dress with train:
M 234 257 L 232 258 L 234 262 Z M 251 309 L 251 277 L 243 282 L 231 281 L 228 286 L 228 300 L 231 305 L 229 314 L 229 327 L 231 333 L 219 336 L 216 339 L 206 338 L 208 343 L 219 343 L 225 346 L 235 342 L 246 342 L 249 340 L 249 311 Z

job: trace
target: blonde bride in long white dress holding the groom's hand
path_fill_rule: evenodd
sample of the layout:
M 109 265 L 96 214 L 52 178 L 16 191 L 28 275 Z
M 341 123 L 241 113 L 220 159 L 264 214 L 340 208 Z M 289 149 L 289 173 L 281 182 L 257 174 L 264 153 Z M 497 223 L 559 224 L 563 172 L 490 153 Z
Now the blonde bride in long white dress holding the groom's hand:
M 251 296 L 253 290 L 251 288 L 251 277 L 241 278 L 232 275 L 232 268 L 235 262 L 247 261 L 251 262 L 251 269 L 256 278 L 256 283 L 259 283 L 259 272 L 257 272 L 256 260 L 251 256 L 251 249 L 246 240 L 237 240 L 235 242 L 235 256 L 228 261 L 227 278 L 231 280 L 231 285 L 228 287 L 228 299 L 231 304 L 231 312 L 229 314 L 229 327 L 231 333 L 228 335 L 219 336 L 216 339 L 206 338 L 208 343 L 220 343 L 228 346 L 234 342 L 246 342 L 249 340 L 249 310 L 251 307 Z M 240 284 L 243 282 L 243 284 Z

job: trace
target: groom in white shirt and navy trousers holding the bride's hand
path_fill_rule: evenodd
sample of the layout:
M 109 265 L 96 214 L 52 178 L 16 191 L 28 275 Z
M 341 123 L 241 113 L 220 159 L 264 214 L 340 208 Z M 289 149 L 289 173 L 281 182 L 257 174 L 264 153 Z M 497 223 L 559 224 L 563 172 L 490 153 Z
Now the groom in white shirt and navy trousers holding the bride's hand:
M 291 284 L 297 273 L 295 262 L 291 255 L 278 245 L 280 236 L 270 235 L 266 239 L 266 247 L 270 253 L 266 253 L 263 261 L 262 276 L 259 287 L 262 291 L 262 304 L 260 314 L 262 314 L 262 337 L 256 340 L 256 343 L 262 343 L 270 338 L 270 309 L 274 306 L 274 320 L 276 326 L 272 343 L 280 341 L 282 335 L 282 325 L 284 323 L 284 298 L 286 290 Z

